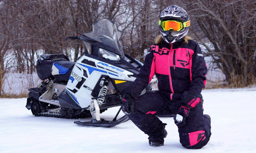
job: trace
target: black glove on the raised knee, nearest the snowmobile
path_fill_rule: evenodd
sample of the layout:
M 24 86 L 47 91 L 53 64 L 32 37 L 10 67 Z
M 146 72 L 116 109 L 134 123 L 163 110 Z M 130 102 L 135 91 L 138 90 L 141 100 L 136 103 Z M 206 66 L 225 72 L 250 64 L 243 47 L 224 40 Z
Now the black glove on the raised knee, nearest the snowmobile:
M 131 114 L 134 112 L 134 100 L 130 94 L 124 94 L 123 96 L 122 111 L 125 114 Z

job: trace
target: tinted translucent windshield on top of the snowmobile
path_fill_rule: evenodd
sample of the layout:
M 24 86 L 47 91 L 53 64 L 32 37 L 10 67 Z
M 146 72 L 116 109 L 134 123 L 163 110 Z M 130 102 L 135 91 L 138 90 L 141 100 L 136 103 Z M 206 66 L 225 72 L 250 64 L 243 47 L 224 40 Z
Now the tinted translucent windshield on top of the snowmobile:
M 103 18 L 96 21 L 92 25 L 92 31 L 85 32 L 83 35 L 96 40 L 106 48 L 110 48 L 109 51 L 124 57 L 121 39 L 124 31 L 118 30 L 117 24 L 110 19 Z

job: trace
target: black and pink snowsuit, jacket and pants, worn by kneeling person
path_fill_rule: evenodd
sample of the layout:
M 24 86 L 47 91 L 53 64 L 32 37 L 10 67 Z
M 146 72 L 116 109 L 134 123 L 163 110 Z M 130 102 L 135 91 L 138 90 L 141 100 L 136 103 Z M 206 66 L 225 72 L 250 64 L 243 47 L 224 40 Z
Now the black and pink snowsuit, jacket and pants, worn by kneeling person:
M 144 65 L 134 83 L 125 90 L 135 100 L 135 112 L 129 119 L 149 136 L 160 136 L 164 124 L 155 115 L 176 114 L 184 91 L 191 91 L 202 99 L 201 91 L 206 84 L 207 66 L 200 46 L 193 40 L 174 44 L 164 41 L 152 45 Z M 159 91 L 141 94 L 156 74 Z M 210 139 L 210 121 L 203 116 L 202 101 L 190 110 L 186 125 L 178 127 L 183 147 L 199 149 Z

